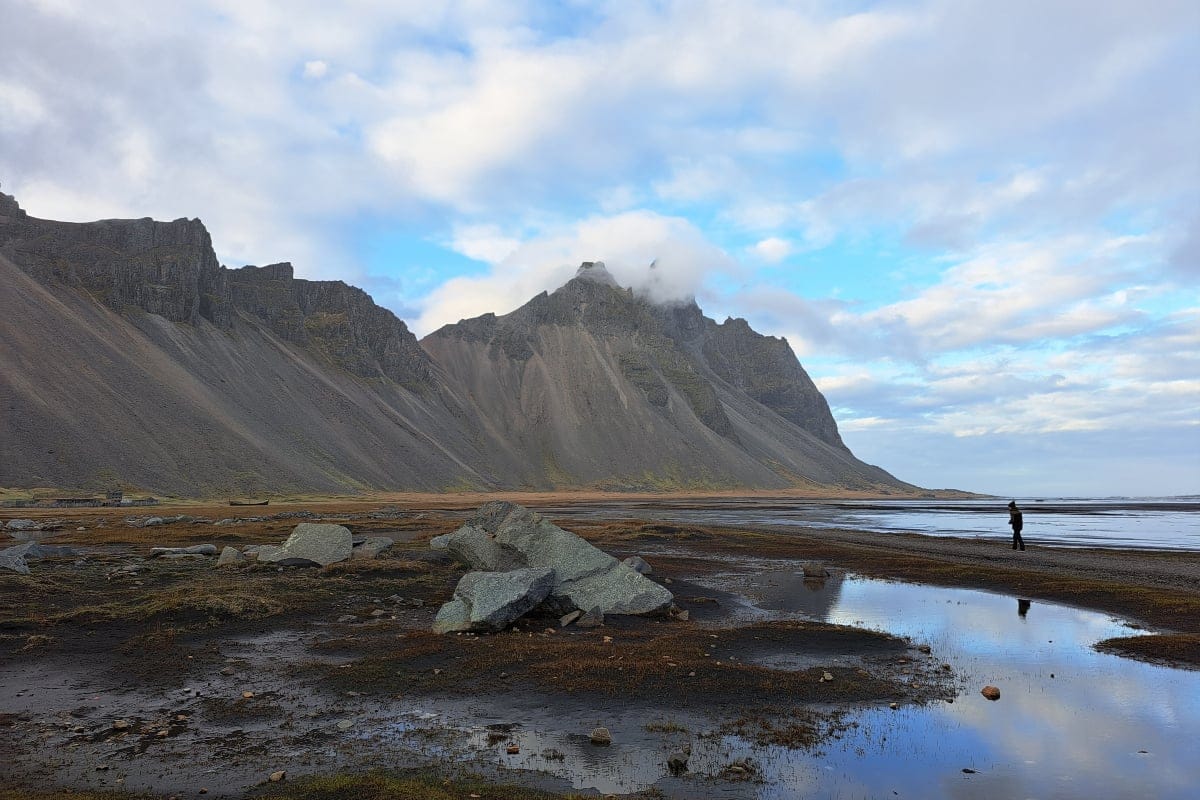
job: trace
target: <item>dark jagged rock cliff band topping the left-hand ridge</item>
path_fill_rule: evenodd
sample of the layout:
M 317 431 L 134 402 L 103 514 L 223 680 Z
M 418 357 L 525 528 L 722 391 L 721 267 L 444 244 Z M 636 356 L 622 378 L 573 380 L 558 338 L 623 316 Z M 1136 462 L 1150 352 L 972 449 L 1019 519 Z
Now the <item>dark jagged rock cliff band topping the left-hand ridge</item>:
M 428 390 L 433 365 L 395 314 L 341 281 L 293 277 L 292 265 L 230 270 L 199 219 L 54 222 L 0 193 L 0 252 L 38 281 L 83 289 L 118 313 L 229 330 L 251 314 L 287 342 L 360 378 Z

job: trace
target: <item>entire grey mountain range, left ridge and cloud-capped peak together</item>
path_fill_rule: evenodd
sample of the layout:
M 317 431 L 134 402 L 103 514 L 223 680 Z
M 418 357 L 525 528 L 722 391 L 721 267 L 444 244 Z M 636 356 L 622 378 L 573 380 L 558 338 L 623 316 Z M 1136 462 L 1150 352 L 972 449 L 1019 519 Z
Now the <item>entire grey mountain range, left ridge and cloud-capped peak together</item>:
M 853 457 L 785 341 L 599 264 L 418 342 L 340 281 L 220 265 L 198 219 L 0 193 L 0 486 L 917 491 Z

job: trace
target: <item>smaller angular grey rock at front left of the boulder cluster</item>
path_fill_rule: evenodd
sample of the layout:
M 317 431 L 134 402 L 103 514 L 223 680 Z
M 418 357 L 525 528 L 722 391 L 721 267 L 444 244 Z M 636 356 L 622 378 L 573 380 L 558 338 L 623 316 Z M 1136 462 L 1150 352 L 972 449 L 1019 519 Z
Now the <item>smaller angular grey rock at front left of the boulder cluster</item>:
M 503 631 L 541 603 L 554 585 L 554 571 L 468 572 L 433 620 L 434 633 Z

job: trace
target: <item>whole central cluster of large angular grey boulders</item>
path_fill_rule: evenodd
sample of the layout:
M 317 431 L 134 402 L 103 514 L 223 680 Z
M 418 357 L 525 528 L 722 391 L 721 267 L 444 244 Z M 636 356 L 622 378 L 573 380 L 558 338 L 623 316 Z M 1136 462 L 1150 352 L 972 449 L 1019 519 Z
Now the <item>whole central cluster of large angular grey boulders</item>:
M 488 503 L 452 534 L 430 542 L 473 569 L 433 631 L 496 632 L 534 608 L 600 624 L 605 614 L 655 614 L 673 595 L 629 564 L 512 503 Z M 642 569 L 649 565 L 638 559 Z M 578 614 L 576 614 L 578 612 Z

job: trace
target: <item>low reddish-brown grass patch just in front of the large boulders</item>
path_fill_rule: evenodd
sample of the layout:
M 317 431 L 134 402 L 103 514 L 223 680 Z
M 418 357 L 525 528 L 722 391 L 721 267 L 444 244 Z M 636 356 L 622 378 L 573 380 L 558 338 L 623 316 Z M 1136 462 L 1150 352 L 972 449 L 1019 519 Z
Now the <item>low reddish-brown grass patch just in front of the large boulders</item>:
M 538 628 L 542 631 L 542 628 Z M 605 640 L 608 638 L 610 640 Z M 583 632 L 505 632 L 494 636 L 438 636 L 409 631 L 397 637 L 380 627 L 372 634 L 323 646 L 365 652 L 348 667 L 324 668 L 342 688 L 390 694 L 470 693 L 511 681 L 547 692 L 592 693 L 706 703 L 746 698 L 780 702 L 857 702 L 938 691 L 922 690 L 850 667 L 772 669 L 740 658 L 788 648 L 841 654 L 900 652 L 906 645 L 882 633 L 818 622 L 769 622 L 744 628 L 700 630 L 677 622 L 644 622 Z M 738 655 L 733 655 L 738 654 Z M 733 656 L 733 657 L 730 657 Z M 823 673 L 834 675 L 822 681 Z

